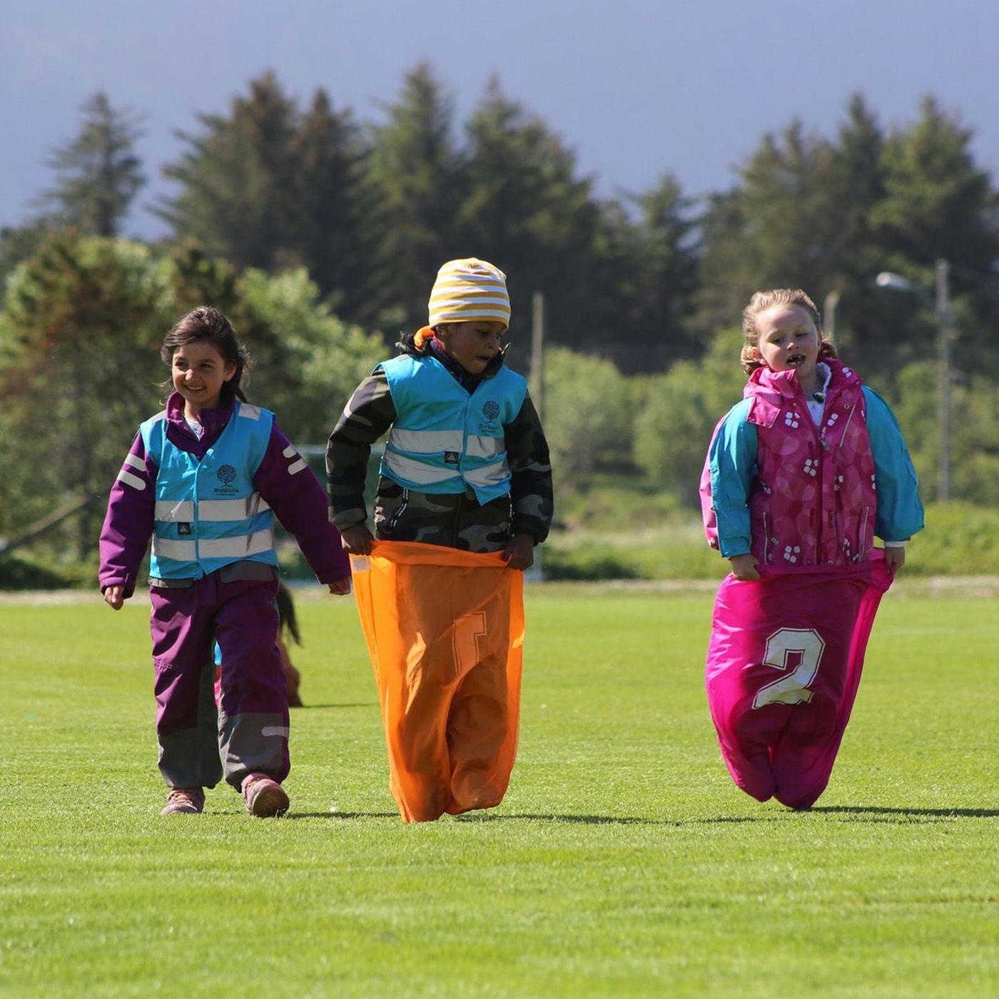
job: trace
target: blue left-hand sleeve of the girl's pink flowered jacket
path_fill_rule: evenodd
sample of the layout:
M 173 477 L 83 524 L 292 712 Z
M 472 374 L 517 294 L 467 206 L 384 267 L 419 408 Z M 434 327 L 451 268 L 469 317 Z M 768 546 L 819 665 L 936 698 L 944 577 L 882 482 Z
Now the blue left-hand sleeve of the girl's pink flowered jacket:
M 756 472 L 756 428 L 746 423 L 749 400 L 728 411 L 711 442 L 711 504 L 718 528 L 718 550 L 726 557 L 748 554 L 749 487 Z

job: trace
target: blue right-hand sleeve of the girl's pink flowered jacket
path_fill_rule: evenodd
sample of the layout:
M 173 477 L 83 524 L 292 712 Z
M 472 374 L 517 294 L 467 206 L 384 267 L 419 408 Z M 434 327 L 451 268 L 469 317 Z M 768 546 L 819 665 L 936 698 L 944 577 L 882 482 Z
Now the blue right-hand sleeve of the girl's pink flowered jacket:
M 863 393 L 877 493 L 874 533 L 885 541 L 901 541 L 923 529 L 923 503 L 916 470 L 888 404 L 866 386 Z

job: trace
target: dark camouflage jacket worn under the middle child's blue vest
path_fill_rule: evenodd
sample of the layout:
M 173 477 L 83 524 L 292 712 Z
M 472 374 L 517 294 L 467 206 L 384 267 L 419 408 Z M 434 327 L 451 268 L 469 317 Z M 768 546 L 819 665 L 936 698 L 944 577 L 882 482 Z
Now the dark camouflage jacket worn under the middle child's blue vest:
M 427 354 L 412 335 L 398 345 L 407 354 Z M 435 354 L 471 393 L 480 378 L 493 378 L 502 355 L 480 377 Z M 372 445 L 396 420 L 396 407 L 381 368 L 358 387 L 337 422 L 326 452 L 330 519 L 350 527 L 368 518 L 365 480 Z M 543 541 L 551 522 L 551 465 L 540 421 L 528 396 L 512 423 L 503 427 L 511 483 L 507 496 L 480 503 L 472 490 L 457 494 L 418 493 L 384 476 L 375 498 L 375 535 L 396 541 L 447 544 L 467 551 L 498 551 L 514 533 Z

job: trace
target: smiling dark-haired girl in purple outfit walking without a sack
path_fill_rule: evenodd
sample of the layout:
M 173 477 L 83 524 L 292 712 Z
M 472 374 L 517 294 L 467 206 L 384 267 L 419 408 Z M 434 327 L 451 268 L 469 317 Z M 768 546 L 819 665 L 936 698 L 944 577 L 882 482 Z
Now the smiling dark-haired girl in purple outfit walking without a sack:
M 283 814 L 288 695 L 278 651 L 273 516 L 331 593 L 350 565 L 326 494 L 267 410 L 240 388 L 249 363 L 229 320 L 201 307 L 161 350 L 166 409 L 139 428 L 101 531 L 101 592 L 119 610 L 150 537 L 150 598 L 163 814 L 198 813 L 220 777 L 257 817 Z M 222 697 L 213 697 L 213 643 Z

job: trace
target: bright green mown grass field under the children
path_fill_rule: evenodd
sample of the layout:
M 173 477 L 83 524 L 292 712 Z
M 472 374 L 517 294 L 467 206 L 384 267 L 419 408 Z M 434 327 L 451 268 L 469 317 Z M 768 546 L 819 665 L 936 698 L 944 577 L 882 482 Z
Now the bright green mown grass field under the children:
M 529 586 L 509 792 L 425 825 L 350 600 L 300 600 L 278 821 L 159 815 L 143 601 L 0 603 L 0 995 L 999 994 L 990 592 L 889 594 L 795 813 L 721 763 L 709 589 Z

